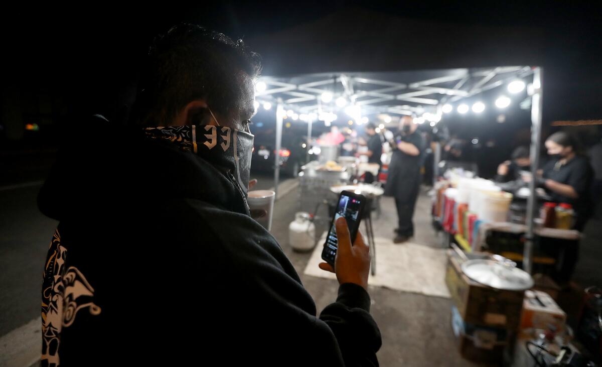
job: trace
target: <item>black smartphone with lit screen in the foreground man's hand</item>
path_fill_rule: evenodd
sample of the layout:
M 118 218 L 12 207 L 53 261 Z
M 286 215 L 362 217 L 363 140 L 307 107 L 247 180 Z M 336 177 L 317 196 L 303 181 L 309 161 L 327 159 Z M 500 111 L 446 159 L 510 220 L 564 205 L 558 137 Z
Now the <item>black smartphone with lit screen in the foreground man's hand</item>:
M 335 215 L 332 218 L 332 222 L 330 222 L 330 229 L 328 234 L 326 234 L 326 242 L 324 243 L 324 249 L 322 250 L 322 259 L 329 263 L 333 269 L 335 267 L 335 257 L 337 256 L 338 249 L 337 229 L 335 227 L 335 222 L 338 218 L 345 218 L 347 221 L 347 227 L 349 227 L 351 243 L 353 245 L 353 242 L 355 242 L 355 237 L 358 235 L 359 222 L 364 214 L 365 204 L 365 196 L 352 191 L 343 191 L 339 196 L 337 209 L 335 210 Z

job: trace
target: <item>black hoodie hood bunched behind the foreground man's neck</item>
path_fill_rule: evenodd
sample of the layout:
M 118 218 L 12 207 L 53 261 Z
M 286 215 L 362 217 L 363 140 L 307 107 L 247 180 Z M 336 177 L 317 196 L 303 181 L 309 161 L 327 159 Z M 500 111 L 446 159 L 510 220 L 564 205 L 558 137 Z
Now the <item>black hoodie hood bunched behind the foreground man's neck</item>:
M 139 128 L 117 127 L 102 116 L 70 129 L 38 195 L 40 211 L 63 220 L 123 200 L 197 199 L 248 215 L 233 172 Z M 114 207 L 113 210 L 119 210 Z

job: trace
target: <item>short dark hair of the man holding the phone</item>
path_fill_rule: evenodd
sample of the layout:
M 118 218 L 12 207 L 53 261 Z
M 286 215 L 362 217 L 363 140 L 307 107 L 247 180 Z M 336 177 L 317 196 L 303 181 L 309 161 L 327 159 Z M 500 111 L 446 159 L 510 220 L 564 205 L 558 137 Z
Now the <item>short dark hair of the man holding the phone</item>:
M 160 126 L 197 98 L 228 114 L 238 101 L 241 72 L 256 78 L 259 55 L 242 40 L 194 24 L 180 24 L 157 36 L 144 61 L 134 104 L 134 124 Z

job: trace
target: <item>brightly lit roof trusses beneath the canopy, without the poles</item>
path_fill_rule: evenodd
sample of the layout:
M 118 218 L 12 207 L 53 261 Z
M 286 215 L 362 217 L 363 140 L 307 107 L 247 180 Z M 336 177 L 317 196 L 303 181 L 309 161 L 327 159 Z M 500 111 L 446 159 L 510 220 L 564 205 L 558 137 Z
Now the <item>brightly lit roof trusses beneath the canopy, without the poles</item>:
M 528 66 L 508 66 L 262 77 L 256 98 L 259 105 L 279 104 L 302 116 L 302 121 L 308 121 L 310 114 L 317 116 L 312 120 L 322 121 L 346 115 L 345 121 L 351 118 L 361 125 L 363 118 L 374 114 L 426 113 L 433 122 L 438 122 L 444 104 L 459 103 L 510 81 L 523 80 L 532 73 Z

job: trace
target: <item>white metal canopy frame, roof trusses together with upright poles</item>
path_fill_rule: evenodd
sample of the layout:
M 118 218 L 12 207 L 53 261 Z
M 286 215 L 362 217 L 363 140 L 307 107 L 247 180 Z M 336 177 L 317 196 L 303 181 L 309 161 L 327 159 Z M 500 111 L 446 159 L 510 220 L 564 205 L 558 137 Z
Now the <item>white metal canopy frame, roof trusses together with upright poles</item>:
M 286 110 L 295 110 L 300 113 L 318 114 L 321 111 L 332 111 L 332 103 L 323 104 L 321 96 L 323 93 L 332 93 L 337 98 L 333 86 L 341 84 L 341 92 L 338 96 L 346 99 L 348 104 L 361 107 L 362 114 L 388 113 L 399 116 L 421 114 L 425 111 L 435 111 L 441 115 L 442 105 L 456 103 L 462 99 L 471 98 L 491 90 L 511 80 L 525 78 L 533 75 L 533 83 L 530 85 L 530 105 L 532 114 L 532 136 L 531 136 L 531 171 L 533 177 L 539 166 L 539 149 L 541 145 L 542 124 L 542 69 L 530 66 L 503 66 L 486 69 L 459 69 L 453 75 L 430 78 L 427 80 L 402 83 L 391 80 L 379 80 L 366 78 L 361 75 L 339 73 L 329 76 L 308 75 L 317 80 L 305 83 L 293 83 L 293 80 L 302 77 L 272 78 L 262 77 L 261 81 L 266 84 L 266 89 L 256 93 L 256 98 L 262 102 L 276 104 L 276 149 L 279 149 L 282 141 L 282 120 Z M 321 78 L 320 78 L 321 76 Z M 454 83 L 453 86 L 448 84 Z M 445 84 L 441 86 L 439 84 Z M 403 102 L 400 103 L 400 102 Z M 312 118 L 308 122 L 308 139 L 311 139 Z M 361 121 L 358 122 L 361 124 Z M 275 187 L 276 198 L 278 198 L 279 165 L 275 161 Z M 532 272 L 533 257 L 533 217 L 535 215 L 535 183 L 530 183 L 530 196 L 527 202 L 527 234 L 524 246 L 523 268 Z

